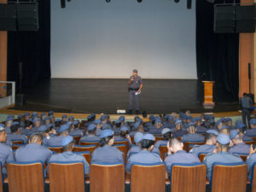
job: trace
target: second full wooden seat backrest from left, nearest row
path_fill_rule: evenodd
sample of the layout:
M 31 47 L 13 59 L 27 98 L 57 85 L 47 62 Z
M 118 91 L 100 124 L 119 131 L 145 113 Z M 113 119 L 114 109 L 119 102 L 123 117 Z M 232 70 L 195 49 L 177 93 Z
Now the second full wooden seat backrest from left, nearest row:
M 49 162 L 50 192 L 84 192 L 84 164 L 82 162 Z

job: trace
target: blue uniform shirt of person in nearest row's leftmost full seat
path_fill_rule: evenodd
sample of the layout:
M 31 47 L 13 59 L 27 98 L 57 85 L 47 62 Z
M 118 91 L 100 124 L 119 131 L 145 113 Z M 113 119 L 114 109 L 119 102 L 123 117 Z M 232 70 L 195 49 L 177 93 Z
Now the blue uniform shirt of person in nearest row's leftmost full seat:
M 18 148 L 15 152 L 16 161 L 42 161 L 48 163 L 52 152 L 49 148 L 46 148 L 38 143 L 30 143 L 25 147 Z

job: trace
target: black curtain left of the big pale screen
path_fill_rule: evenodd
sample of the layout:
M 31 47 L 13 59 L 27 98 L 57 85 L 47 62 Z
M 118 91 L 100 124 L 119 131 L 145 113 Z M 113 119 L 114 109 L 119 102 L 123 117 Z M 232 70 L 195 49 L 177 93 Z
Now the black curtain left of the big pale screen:
M 22 62 L 22 88 L 38 84 L 50 78 L 50 0 L 38 2 L 37 32 L 8 33 L 9 81 L 15 81 L 19 91 L 19 62 Z

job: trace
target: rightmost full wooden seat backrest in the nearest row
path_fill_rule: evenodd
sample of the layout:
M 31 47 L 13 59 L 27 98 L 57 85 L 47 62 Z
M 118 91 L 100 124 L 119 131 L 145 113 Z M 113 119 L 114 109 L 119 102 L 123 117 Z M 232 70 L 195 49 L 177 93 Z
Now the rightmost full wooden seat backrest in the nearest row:
M 212 165 L 212 192 L 246 192 L 247 165 L 229 163 Z

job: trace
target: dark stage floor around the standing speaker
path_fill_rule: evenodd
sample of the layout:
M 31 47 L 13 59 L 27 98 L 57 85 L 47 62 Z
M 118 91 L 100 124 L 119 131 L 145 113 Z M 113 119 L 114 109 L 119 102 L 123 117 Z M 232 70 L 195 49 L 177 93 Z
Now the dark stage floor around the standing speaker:
M 13 109 L 61 113 L 116 113 L 127 109 L 127 79 L 50 79 L 24 91 L 25 106 Z M 171 113 L 189 109 L 191 113 L 237 111 L 236 102 L 218 96 L 215 108 L 203 109 L 197 80 L 143 79 L 140 111 Z

